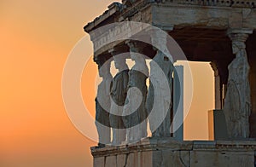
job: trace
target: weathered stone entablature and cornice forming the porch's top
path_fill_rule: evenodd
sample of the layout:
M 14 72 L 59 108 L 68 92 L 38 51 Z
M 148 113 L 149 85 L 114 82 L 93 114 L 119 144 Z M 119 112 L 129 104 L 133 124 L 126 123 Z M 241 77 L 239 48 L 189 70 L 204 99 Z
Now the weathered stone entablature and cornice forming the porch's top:
M 90 33 L 91 40 L 94 43 L 95 56 L 112 49 L 114 45 L 118 44 L 111 43 L 115 41 L 112 40 L 113 37 L 125 36 L 126 32 L 136 32 L 136 30 L 120 31 L 122 30 L 121 27 L 120 30 L 118 28 L 114 31 L 92 31 L 100 24 L 105 25 L 106 23 L 131 20 L 158 26 L 168 32 L 172 31 L 169 27 L 178 29 L 191 26 L 214 30 L 226 30 L 228 28 L 256 29 L 256 10 L 252 8 L 253 3 L 255 3 L 253 0 L 236 0 L 232 4 L 228 0 L 221 2 L 166 0 L 165 3 L 160 2 L 140 0 L 130 6 L 113 3 L 104 14 L 84 26 L 84 31 Z M 106 21 L 109 18 L 113 20 Z

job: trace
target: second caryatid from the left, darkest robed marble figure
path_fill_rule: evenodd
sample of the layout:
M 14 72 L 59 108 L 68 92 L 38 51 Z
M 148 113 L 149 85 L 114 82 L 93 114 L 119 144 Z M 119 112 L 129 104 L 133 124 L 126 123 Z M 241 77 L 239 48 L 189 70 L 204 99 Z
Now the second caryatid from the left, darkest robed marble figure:
M 125 98 L 127 95 L 127 84 L 129 80 L 129 68 L 125 63 L 125 57 L 113 56 L 114 66 L 119 72 L 114 76 L 110 86 L 111 108 L 110 126 L 113 131 L 113 145 L 120 145 L 125 141 L 125 127 L 122 119 Z

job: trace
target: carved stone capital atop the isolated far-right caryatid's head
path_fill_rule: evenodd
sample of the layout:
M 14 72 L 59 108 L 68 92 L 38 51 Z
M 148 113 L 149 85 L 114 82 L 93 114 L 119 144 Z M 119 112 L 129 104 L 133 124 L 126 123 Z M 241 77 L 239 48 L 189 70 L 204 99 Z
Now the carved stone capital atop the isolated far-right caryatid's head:
M 245 43 L 249 34 L 252 34 L 252 29 L 247 28 L 230 28 L 227 31 L 228 36 L 232 42 L 242 42 Z

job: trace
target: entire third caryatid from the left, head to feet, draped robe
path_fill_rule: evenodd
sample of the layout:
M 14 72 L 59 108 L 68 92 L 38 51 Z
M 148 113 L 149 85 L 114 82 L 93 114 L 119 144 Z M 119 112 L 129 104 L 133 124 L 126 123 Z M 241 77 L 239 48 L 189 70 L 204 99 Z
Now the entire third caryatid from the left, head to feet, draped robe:
M 128 92 L 125 100 L 123 120 L 126 129 L 126 141 L 139 141 L 147 137 L 147 112 L 145 107 L 148 88 L 148 66 L 143 55 L 139 54 L 137 43 L 128 43 L 131 60 L 135 61 L 129 72 Z

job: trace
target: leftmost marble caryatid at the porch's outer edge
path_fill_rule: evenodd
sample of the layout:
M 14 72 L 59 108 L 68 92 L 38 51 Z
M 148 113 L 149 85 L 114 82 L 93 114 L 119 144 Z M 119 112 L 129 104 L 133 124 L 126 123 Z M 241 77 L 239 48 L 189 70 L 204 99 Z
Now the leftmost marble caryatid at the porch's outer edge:
M 110 83 L 112 75 L 110 73 L 110 62 L 98 63 L 99 76 L 102 82 L 98 85 L 96 95 L 96 129 L 99 135 L 99 147 L 104 147 L 110 143 Z

